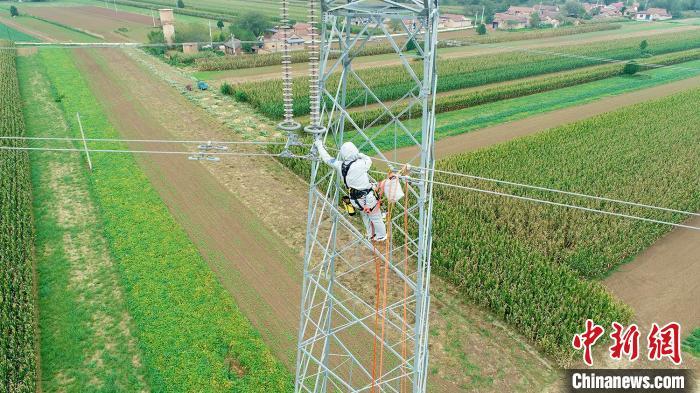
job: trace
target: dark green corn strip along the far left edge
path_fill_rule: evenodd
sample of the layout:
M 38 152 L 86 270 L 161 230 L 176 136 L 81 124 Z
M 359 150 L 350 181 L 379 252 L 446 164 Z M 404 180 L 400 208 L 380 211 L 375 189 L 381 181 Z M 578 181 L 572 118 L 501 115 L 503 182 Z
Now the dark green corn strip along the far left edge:
M 0 50 L 0 91 L 0 135 L 23 136 L 14 50 Z M 2 140 L 0 146 L 25 144 Z M 29 155 L 0 150 L 0 390 L 8 392 L 36 390 L 33 241 Z

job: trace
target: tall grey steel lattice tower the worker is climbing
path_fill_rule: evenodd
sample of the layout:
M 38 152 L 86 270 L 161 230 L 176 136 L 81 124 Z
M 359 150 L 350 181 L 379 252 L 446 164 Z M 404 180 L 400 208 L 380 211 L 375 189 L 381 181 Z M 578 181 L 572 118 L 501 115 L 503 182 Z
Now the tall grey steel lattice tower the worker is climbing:
M 353 141 L 384 170 L 399 143 L 415 148 L 407 197 L 384 210 L 390 238 L 370 242 L 339 209 L 342 180 L 313 161 L 296 365 L 297 392 L 424 392 L 428 366 L 437 0 L 319 0 L 311 45 L 312 122 L 326 146 Z M 311 0 L 310 3 L 316 3 Z M 317 6 L 310 4 L 312 9 Z M 311 23 L 315 22 L 313 15 Z M 395 34 L 391 27 L 398 28 Z M 358 55 L 389 45 L 405 83 L 381 100 Z M 312 61 L 313 63 L 313 61 Z M 392 70 L 396 72 L 396 70 Z M 367 115 L 353 114 L 360 109 Z M 387 119 L 389 122 L 387 123 Z M 377 180 L 386 175 L 374 172 Z

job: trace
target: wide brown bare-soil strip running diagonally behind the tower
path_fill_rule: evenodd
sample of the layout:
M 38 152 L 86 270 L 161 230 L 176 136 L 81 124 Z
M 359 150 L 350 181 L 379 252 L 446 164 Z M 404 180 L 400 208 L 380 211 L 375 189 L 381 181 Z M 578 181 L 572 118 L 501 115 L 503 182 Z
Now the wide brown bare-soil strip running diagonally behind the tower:
M 231 121 L 222 114 L 217 116 L 220 122 L 213 121 L 214 117 L 139 64 L 146 64 L 178 89 L 179 83 L 191 83 L 150 56 L 115 50 L 78 56 L 91 86 L 112 112 L 110 120 L 125 137 L 231 140 L 237 138 L 234 133 L 251 136 L 249 131 L 239 131 L 257 121 L 245 114 L 246 106 L 231 104 L 225 97 L 219 101 L 213 92 L 186 92 L 198 105 L 215 108 L 210 113 L 230 111 L 239 117 Z M 261 132 L 273 128 L 264 122 L 255 126 Z M 205 165 L 182 157 L 149 156 L 139 161 L 266 343 L 293 366 L 307 184 L 276 160 L 264 157 L 226 158 Z M 488 386 L 539 391 L 556 377 L 549 362 L 525 340 L 440 280 L 434 281 L 433 295 L 431 391 Z

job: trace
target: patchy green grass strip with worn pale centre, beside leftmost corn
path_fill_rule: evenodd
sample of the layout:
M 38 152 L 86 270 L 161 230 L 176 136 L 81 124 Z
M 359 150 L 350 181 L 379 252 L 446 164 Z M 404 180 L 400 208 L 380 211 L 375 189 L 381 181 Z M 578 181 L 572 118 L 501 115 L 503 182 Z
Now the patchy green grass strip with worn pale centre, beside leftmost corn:
M 18 58 L 27 134 L 64 137 L 38 56 Z M 73 148 L 66 142 L 62 148 Z M 31 154 L 41 390 L 149 390 L 115 261 L 78 155 Z M 70 332 L 70 333 L 68 333 Z

